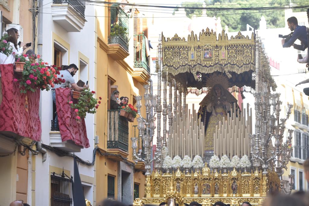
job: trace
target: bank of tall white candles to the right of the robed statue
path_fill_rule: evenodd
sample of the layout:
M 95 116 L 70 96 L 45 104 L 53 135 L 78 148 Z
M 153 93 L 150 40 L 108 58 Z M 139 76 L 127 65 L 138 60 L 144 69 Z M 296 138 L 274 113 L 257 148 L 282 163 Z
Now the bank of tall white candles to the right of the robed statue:
M 235 111 L 235 104 L 233 105 L 233 109 Z M 226 154 L 231 159 L 234 155 L 242 157 L 246 154 L 250 156 L 248 135 L 252 134 L 252 109 L 250 108 L 249 110 L 249 104 L 247 104 L 247 109 L 243 108 L 241 113 L 238 110 L 237 116 L 236 112 L 231 113 L 231 116 L 229 114 L 227 115 L 226 119 L 223 118 L 222 124 L 220 122 L 216 126 L 216 132 L 214 133 L 214 154 L 218 157 Z

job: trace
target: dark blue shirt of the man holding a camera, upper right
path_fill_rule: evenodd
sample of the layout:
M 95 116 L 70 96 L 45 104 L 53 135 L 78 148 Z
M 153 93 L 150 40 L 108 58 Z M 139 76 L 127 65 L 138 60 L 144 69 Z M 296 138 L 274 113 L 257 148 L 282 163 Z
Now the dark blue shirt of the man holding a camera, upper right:
M 294 48 L 298 50 L 304 51 L 308 47 L 308 40 L 307 40 L 307 32 L 305 26 L 298 26 L 295 28 L 293 35 L 291 36 L 290 40 L 288 42 L 285 42 L 282 47 L 290 47 L 292 44 L 299 39 L 302 45 L 294 44 Z

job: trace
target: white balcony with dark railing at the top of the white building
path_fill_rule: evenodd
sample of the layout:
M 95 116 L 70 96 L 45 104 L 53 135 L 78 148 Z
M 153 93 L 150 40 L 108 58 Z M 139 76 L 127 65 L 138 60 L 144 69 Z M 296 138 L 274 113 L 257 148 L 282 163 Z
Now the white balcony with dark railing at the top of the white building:
M 67 32 L 80 32 L 86 22 L 84 0 L 53 0 L 53 21 Z

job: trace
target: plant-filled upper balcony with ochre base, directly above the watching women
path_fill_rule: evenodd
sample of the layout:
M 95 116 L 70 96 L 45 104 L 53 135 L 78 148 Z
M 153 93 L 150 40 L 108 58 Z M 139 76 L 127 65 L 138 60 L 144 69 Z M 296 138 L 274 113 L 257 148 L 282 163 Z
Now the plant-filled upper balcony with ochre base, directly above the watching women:
M 129 16 L 118 4 L 110 8 L 110 35 L 108 36 L 108 55 L 115 60 L 129 56 Z

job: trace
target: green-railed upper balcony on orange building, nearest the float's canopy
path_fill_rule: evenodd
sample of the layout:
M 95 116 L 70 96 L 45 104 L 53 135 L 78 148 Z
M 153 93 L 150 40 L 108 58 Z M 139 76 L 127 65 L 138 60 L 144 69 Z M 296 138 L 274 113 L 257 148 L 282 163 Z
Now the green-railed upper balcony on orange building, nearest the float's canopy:
M 147 38 L 141 35 L 134 35 L 134 71 L 131 74 L 138 82 L 147 83 L 150 78 L 149 67 L 149 44 Z

